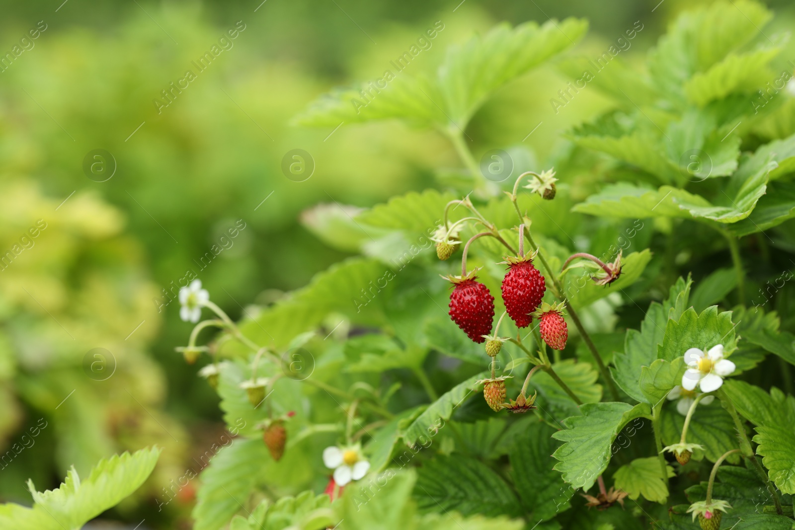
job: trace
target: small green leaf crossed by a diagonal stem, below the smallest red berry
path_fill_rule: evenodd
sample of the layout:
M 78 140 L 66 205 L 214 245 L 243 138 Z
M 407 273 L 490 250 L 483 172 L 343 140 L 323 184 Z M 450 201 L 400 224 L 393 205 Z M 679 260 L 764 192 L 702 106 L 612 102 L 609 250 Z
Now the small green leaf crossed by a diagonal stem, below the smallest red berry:
M 599 373 L 591 363 L 566 359 L 554 363 L 553 369 L 583 403 L 598 403 L 602 400 L 602 385 L 596 383 Z M 563 419 L 580 414 L 579 405 L 560 389 L 549 373 L 539 371 L 534 374 L 530 387 L 538 390 L 538 405 L 553 417 Z

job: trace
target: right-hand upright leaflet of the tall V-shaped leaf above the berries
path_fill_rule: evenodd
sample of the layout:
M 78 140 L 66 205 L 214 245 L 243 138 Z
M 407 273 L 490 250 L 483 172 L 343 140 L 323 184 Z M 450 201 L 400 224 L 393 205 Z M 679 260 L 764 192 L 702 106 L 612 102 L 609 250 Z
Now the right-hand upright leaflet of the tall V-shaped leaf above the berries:
M 572 47 L 588 31 L 584 19 L 525 22 L 511 29 L 498 25 L 448 50 L 439 68 L 438 86 L 445 114 L 461 130 L 475 110 L 499 87 Z

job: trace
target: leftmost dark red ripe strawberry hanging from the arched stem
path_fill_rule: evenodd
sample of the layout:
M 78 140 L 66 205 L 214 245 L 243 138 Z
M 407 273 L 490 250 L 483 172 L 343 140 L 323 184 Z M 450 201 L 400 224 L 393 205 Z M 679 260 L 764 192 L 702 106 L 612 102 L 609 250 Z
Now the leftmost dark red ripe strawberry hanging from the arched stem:
M 450 294 L 450 318 L 470 339 L 483 342 L 491 333 L 494 319 L 494 296 L 489 288 L 474 278 L 458 280 Z

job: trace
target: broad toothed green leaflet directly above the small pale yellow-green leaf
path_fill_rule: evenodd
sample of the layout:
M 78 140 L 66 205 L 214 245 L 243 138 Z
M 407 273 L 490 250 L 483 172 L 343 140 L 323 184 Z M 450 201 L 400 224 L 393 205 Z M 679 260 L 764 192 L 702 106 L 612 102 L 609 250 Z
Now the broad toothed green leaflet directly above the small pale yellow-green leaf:
M 565 482 L 575 489 L 590 489 L 596 478 L 607 469 L 611 444 L 630 420 L 650 417 L 648 404 L 634 407 L 626 403 L 588 403 L 580 407 L 583 416 L 572 416 L 563 421 L 564 431 L 553 434 L 554 439 L 565 442 L 553 453 L 560 460 L 556 470 Z

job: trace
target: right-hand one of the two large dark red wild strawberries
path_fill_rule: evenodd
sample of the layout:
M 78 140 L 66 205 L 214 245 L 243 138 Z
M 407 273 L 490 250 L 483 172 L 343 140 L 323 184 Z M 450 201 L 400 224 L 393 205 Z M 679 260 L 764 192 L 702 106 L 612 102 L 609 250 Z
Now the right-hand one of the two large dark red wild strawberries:
M 544 277 L 533 267 L 529 257 L 508 257 L 506 261 L 510 267 L 502 280 L 502 301 L 516 325 L 528 327 L 533 320 L 530 313 L 544 297 Z

